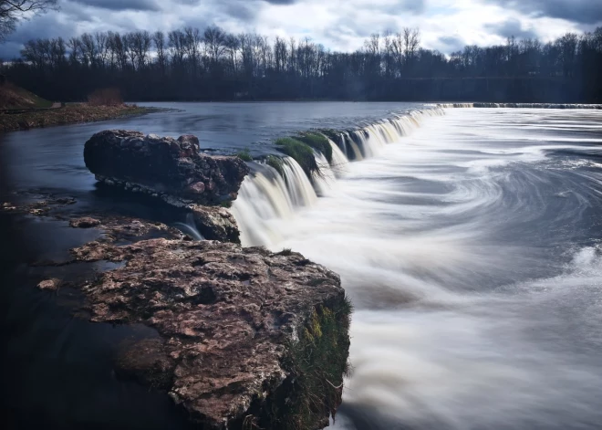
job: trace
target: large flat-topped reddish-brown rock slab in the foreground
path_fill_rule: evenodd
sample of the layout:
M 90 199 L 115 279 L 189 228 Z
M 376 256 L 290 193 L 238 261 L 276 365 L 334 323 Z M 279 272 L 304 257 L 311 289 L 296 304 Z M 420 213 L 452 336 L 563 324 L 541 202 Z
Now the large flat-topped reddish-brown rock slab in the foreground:
M 202 428 L 317 429 L 341 402 L 350 307 L 338 276 L 292 252 L 214 241 L 90 244 L 125 262 L 81 288 L 91 319 L 143 323 L 118 374 L 168 390 Z

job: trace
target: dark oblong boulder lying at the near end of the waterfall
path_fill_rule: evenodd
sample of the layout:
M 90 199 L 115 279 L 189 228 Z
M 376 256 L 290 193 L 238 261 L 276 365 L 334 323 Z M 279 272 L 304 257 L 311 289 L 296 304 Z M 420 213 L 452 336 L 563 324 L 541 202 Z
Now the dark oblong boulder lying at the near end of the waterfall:
M 249 173 L 238 157 L 200 152 L 195 136 L 176 140 L 139 131 L 100 131 L 86 142 L 84 161 L 99 181 L 178 206 L 232 201 Z

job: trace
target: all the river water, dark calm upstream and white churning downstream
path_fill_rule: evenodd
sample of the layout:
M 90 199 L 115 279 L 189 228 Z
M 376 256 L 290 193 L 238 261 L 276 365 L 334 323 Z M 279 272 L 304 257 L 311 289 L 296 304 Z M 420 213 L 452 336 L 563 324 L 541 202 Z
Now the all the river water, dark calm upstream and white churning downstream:
M 10 133 L 0 138 L 0 193 L 49 187 L 77 196 L 76 211 L 101 206 L 190 228 L 159 207 L 150 212 L 144 202 L 96 190 L 81 160 L 89 135 L 116 126 L 192 132 L 213 147 L 265 152 L 269 139 L 296 130 L 358 130 L 332 142 L 331 165 L 317 157 L 323 174 L 313 181 L 290 159 L 284 177 L 255 166 L 233 208 L 244 245 L 302 252 L 337 271 L 354 302 L 353 372 L 335 428 L 602 425 L 602 111 L 174 107 L 181 110 Z M 146 402 L 156 406 L 139 428 L 177 428 L 179 418 L 159 418 L 169 415 L 159 394 L 106 382 L 102 351 L 127 333 L 64 322 L 51 299 L 24 292 L 35 286 L 24 262 L 85 238 L 60 225 L 55 232 L 11 223 L 0 219 L 9 242 L 0 249 L 3 279 L 15 284 L 5 293 L 12 305 L 3 326 L 20 333 L 8 337 L 9 358 L 16 357 L 16 375 L 46 375 L 26 379 L 26 388 L 12 375 L 5 389 L 20 397 L 11 407 L 23 412 L 34 404 L 50 423 L 74 428 L 107 423 L 107 416 L 113 427 L 134 428 Z M 23 251 L 26 243 L 35 252 Z M 88 351 L 103 360 L 92 363 Z M 67 406 L 73 397 L 77 411 Z

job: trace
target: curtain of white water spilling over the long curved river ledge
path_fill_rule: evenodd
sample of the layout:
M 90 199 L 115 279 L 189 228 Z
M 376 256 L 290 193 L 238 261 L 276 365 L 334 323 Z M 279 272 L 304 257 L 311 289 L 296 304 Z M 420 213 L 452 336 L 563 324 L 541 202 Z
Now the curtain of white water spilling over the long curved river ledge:
M 372 157 L 385 145 L 399 142 L 420 127 L 424 118 L 443 114 L 443 108 L 435 106 L 342 132 L 338 144 L 328 140 L 332 147 L 331 163 L 324 154 L 315 152 L 319 173 L 313 173 L 311 180 L 290 157 L 283 157 L 280 173 L 260 164 L 244 180 L 232 207 L 243 245 L 277 246 L 283 240 L 281 232 L 285 231 L 285 226 L 278 224 L 293 218 L 300 208 L 314 205 L 318 196 L 327 196 L 337 183 L 337 177 L 348 172 L 349 161 Z

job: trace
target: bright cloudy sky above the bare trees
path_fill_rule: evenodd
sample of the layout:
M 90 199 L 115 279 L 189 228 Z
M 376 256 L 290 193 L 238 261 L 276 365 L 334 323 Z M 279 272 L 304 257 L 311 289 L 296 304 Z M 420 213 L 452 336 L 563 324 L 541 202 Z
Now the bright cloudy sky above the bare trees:
M 268 37 L 311 37 L 333 50 L 354 50 L 374 32 L 418 26 L 421 46 L 449 54 L 509 36 L 544 41 L 602 26 L 602 0 L 59 0 L 60 11 L 21 24 L 0 45 L 14 58 L 36 37 L 182 26 L 222 26 Z

